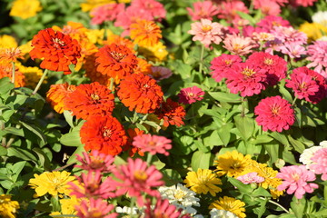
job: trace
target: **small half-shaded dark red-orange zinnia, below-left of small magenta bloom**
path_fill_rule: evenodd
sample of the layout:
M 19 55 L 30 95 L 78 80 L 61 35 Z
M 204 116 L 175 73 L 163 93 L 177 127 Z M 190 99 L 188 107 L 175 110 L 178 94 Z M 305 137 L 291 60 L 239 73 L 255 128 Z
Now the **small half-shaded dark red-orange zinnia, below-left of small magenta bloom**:
M 167 101 L 162 104 L 160 110 L 156 111 L 158 119 L 163 119 L 163 126 L 168 127 L 171 125 L 183 125 L 183 118 L 186 115 L 183 106 L 173 102 L 172 99 L 167 98 Z

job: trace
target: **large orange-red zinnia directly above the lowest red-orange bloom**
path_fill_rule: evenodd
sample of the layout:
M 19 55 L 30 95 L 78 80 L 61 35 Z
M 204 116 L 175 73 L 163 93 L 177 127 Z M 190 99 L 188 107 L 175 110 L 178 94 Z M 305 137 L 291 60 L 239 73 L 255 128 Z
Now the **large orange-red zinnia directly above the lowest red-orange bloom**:
M 112 114 L 114 94 L 109 88 L 97 82 L 80 84 L 64 99 L 64 105 L 77 119 L 87 120 L 93 115 Z

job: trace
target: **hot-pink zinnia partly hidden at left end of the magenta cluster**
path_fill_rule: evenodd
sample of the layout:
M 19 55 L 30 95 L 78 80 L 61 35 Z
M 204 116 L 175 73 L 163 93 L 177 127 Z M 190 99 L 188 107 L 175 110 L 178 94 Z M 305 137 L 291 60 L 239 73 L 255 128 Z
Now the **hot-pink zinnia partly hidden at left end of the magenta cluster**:
M 222 54 L 218 57 L 214 57 L 210 67 L 210 69 L 213 70 L 211 73 L 213 79 L 219 83 L 223 78 L 228 78 L 233 64 L 241 62 L 242 59 L 238 55 Z

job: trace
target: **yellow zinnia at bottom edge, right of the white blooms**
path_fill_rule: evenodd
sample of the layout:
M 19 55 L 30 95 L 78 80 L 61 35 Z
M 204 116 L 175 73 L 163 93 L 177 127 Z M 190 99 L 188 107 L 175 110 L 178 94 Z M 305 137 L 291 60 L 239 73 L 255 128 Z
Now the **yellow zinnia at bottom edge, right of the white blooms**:
M 218 210 L 230 211 L 237 215 L 240 218 L 246 217 L 245 213 L 245 203 L 240 200 L 237 200 L 233 197 L 223 196 L 223 198 L 219 198 L 219 200 L 214 201 L 210 204 L 209 209 L 216 208 Z

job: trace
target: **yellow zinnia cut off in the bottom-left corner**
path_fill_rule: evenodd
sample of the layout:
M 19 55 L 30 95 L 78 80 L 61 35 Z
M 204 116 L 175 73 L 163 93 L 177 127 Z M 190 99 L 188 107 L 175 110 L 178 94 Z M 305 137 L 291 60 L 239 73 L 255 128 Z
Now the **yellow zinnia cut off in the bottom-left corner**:
M 19 209 L 19 203 L 11 201 L 11 195 L 0 195 L 0 217 L 15 218 L 16 210 Z

